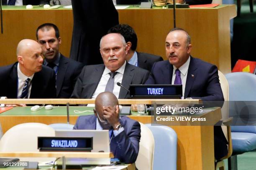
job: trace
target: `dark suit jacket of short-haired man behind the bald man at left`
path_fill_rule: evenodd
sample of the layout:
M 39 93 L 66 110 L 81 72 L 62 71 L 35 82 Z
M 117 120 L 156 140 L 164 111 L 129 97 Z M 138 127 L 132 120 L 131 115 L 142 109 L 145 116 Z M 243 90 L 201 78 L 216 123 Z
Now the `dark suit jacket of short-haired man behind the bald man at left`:
M 60 55 L 59 68 L 56 76 L 56 96 L 57 98 L 69 98 L 74 90 L 84 65 L 81 62 L 74 61 Z

